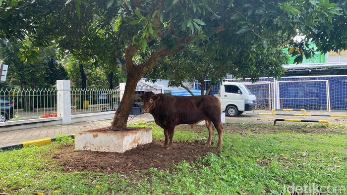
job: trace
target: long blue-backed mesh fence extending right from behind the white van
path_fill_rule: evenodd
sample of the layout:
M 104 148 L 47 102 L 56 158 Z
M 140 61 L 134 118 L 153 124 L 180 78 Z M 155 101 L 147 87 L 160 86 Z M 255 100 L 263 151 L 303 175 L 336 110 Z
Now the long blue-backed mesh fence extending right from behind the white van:
M 347 111 L 347 75 L 320 75 L 251 79 L 227 79 L 242 82 L 257 98 L 257 109 L 306 109 L 315 111 Z M 210 84 L 205 80 L 205 89 Z M 201 89 L 195 83 L 195 89 Z M 211 88 L 210 95 L 218 94 L 220 85 Z

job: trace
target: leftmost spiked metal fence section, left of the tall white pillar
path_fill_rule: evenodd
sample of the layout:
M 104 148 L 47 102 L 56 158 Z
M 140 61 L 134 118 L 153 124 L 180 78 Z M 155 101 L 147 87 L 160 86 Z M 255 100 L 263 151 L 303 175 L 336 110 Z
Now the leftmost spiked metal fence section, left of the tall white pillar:
M 1 118 L 4 120 L 57 116 L 56 104 L 56 89 L 0 89 Z

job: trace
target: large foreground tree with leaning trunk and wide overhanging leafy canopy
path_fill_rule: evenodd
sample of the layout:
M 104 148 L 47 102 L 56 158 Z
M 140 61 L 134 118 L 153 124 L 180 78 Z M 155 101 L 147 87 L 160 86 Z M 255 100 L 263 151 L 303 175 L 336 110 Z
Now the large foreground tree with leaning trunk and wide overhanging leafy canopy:
M 0 4 L 1 37 L 30 37 L 37 45 L 54 41 L 70 53 L 105 63 L 110 54 L 98 49 L 123 54 L 127 84 L 112 128 L 126 126 L 141 77 L 187 46 L 206 47 L 206 56 L 215 52 L 221 58 L 217 61 L 225 62 L 213 63 L 217 68 L 230 65 L 226 68 L 236 75 L 244 70 L 254 78 L 262 70 L 274 76 L 281 73 L 281 64 L 276 63 L 281 47 L 288 47 L 298 63 L 313 54 L 309 41 L 319 52 L 347 48 L 347 6 L 340 0 L 0 0 Z M 296 42 L 296 35 L 305 39 Z

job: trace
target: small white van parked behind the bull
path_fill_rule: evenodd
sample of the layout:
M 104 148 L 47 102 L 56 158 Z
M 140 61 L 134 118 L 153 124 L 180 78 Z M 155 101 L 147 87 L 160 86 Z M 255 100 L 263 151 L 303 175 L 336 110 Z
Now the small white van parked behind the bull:
M 254 110 L 257 106 L 255 96 L 242 83 L 223 82 L 220 94 L 222 111 L 228 116 L 237 116 L 246 110 Z

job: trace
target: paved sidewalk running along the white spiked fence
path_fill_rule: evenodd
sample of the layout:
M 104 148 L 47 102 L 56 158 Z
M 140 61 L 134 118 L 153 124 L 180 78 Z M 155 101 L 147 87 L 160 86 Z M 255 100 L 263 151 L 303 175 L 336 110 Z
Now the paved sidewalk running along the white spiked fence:
M 71 135 L 80 131 L 87 131 L 100 127 L 111 126 L 113 119 L 99 121 L 85 121 L 68 125 L 55 125 L 15 131 L 0 132 L 0 147 L 19 144 L 27 141 L 40 140 L 45 138 L 54 138 L 58 133 L 62 135 Z M 151 114 L 141 114 L 129 116 L 128 124 L 138 123 L 140 121 L 151 122 L 154 118 Z

